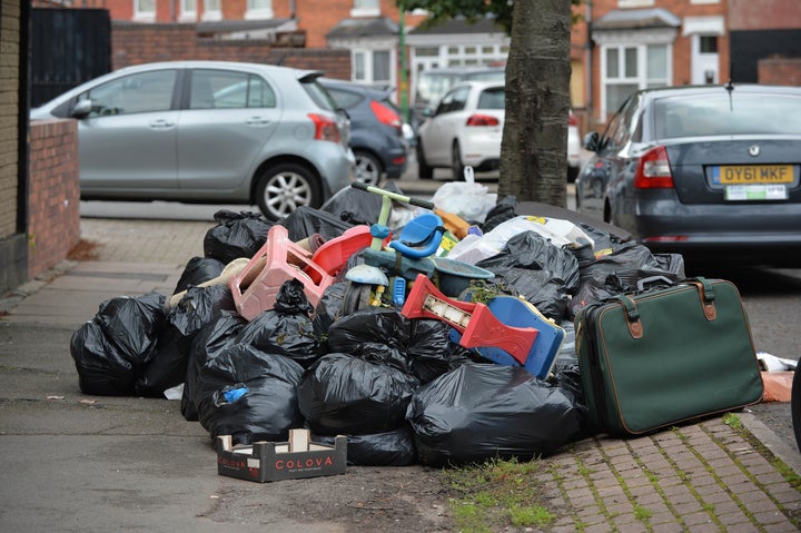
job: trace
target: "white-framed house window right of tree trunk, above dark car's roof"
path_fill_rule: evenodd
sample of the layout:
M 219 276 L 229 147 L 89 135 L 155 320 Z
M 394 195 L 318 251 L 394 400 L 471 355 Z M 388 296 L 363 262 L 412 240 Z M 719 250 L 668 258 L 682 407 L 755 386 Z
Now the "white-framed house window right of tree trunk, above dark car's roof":
M 669 85 L 672 67 L 669 52 L 668 45 L 604 47 L 601 56 L 603 112 L 615 112 L 636 90 Z

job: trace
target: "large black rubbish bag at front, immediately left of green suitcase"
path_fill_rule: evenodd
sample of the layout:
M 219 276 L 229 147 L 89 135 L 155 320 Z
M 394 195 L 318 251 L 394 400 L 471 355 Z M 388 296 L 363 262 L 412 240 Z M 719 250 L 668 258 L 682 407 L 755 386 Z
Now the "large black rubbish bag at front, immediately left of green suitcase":
M 550 455 L 585 434 L 585 407 L 522 367 L 465 364 L 421 387 L 406 418 L 429 466 Z

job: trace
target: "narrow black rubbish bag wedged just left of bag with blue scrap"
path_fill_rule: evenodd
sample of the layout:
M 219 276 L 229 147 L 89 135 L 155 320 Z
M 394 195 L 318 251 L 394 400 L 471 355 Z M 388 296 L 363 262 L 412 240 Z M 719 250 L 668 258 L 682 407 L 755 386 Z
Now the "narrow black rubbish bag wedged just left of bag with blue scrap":
M 237 313 L 221 312 L 195 334 L 189 346 L 181 396 L 181 414 L 185 420 L 189 422 L 198 420 L 197 409 L 202 399 L 200 369 L 228 345 L 234 344 L 234 338 L 245 324 L 247 320 Z

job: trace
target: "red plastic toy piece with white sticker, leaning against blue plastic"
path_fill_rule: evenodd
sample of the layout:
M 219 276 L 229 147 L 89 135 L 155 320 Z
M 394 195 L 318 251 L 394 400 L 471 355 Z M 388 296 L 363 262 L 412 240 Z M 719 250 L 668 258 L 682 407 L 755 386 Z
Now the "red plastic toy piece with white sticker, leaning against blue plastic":
M 400 314 L 406 318 L 435 318 L 462 333 L 465 348 L 494 346 L 521 365 L 528 358 L 538 329 L 507 326 L 484 304 L 462 302 L 442 294 L 426 276 L 418 274 Z

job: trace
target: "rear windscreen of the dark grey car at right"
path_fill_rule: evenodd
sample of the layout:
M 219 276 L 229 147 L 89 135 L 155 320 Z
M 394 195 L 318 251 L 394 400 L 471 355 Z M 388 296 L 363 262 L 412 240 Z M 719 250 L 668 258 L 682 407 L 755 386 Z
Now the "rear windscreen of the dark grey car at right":
M 656 139 L 688 136 L 801 135 L 801 97 L 781 93 L 699 93 L 654 102 Z M 792 117 L 792 118 L 791 118 Z

